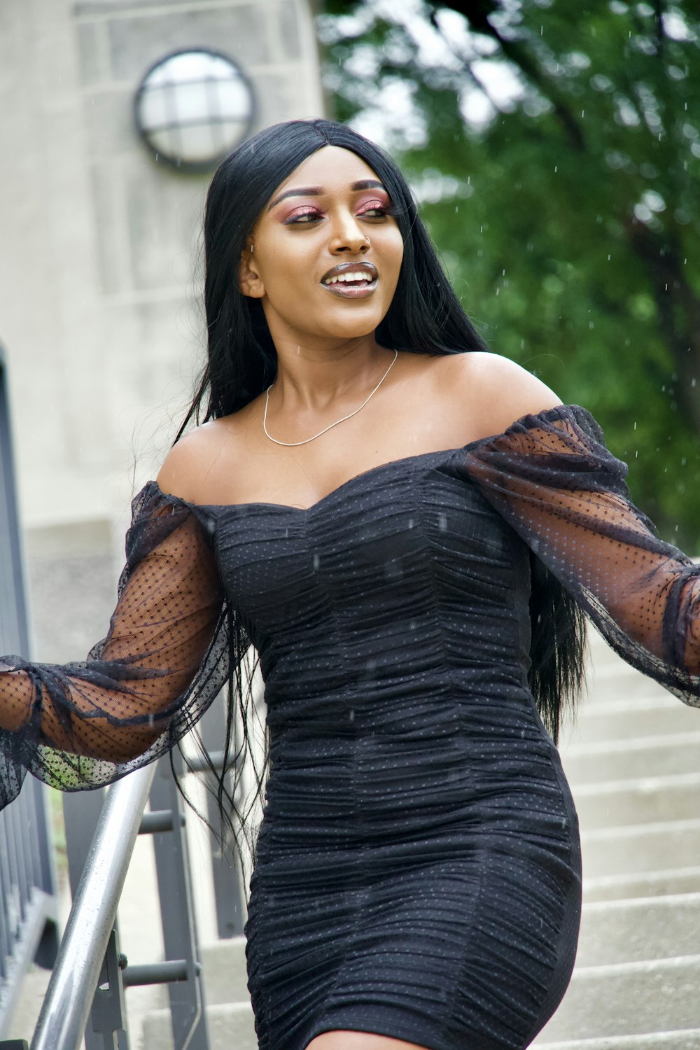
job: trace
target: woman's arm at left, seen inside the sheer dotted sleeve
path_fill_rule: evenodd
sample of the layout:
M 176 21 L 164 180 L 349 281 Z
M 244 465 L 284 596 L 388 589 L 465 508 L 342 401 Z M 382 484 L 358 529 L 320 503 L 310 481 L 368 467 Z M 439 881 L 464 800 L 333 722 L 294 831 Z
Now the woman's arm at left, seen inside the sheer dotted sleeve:
M 110 761 L 135 757 L 164 732 L 220 608 L 212 551 L 188 513 L 131 565 L 99 659 L 0 674 L 0 727 L 17 731 L 35 721 L 51 748 Z

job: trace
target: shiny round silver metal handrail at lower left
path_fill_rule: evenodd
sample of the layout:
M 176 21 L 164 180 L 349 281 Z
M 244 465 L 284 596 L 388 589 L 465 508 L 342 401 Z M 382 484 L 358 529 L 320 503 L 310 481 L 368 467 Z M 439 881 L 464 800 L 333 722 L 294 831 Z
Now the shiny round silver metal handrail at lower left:
M 80 1050 L 154 775 L 155 763 L 151 762 L 107 793 L 31 1050 Z

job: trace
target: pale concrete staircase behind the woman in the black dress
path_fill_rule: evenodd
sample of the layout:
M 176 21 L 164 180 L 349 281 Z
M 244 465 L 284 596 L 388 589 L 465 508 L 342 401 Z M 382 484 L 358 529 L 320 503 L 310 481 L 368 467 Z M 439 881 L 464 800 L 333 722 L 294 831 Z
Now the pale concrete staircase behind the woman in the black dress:
M 591 631 L 589 695 L 561 753 L 580 817 L 576 970 L 538 1050 L 700 1050 L 700 710 Z M 212 1050 L 256 1050 L 242 939 L 205 949 Z M 169 1013 L 143 1047 L 171 1050 Z

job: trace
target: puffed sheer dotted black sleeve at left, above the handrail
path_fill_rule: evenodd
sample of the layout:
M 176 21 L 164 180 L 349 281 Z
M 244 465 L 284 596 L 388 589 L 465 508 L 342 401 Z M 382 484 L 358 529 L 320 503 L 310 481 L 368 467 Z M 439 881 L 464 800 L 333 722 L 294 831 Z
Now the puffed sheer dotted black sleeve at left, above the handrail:
M 80 664 L 0 662 L 0 806 L 27 770 L 71 791 L 157 758 L 242 655 L 232 652 L 231 613 L 193 508 L 150 482 L 132 514 L 106 638 Z

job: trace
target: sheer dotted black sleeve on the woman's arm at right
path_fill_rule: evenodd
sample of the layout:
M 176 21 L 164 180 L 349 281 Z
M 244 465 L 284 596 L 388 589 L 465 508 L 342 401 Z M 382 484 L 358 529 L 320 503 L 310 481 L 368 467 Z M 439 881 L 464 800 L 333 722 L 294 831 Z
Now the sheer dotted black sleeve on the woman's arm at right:
M 464 469 L 620 656 L 700 706 L 700 566 L 631 502 L 627 466 L 576 405 L 465 448 Z

